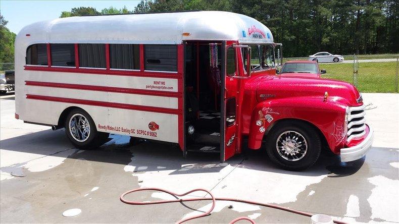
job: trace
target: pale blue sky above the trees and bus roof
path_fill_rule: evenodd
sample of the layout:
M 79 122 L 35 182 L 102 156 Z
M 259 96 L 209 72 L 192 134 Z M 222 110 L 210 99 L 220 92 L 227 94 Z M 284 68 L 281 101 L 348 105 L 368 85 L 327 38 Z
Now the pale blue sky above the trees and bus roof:
M 62 11 L 71 11 L 75 7 L 93 7 L 97 11 L 113 6 L 132 11 L 140 1 L 0 1 L 0 13 L 8 20 L 7 28 L 18 34 L 26 25 L 42 20 L 60 17 Z

